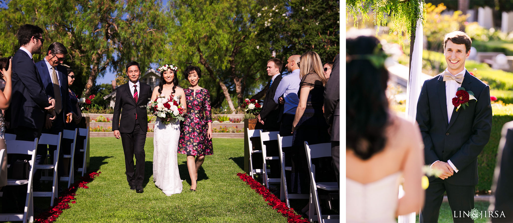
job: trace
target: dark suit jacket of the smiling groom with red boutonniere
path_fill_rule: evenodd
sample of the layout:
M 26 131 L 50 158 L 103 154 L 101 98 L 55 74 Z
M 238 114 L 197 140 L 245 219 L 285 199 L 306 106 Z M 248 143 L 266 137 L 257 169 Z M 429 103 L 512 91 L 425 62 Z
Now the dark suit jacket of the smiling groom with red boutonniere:
M 472 91 L 477 102 L 469 102 L 466 109 L 460 108 L 458 112 L 454 108 L 449 121 L 443 73 L 426 80 L 419 96 L 416 119 L 424 140 L 425 164 L 450 159 L 459 172 L 445 179 L 447 183 L 477 185 L 477 158 L 491 132 L 490 87 L 468 71 L 461 87 Z M 433 179 L 435 177 L 429 178 Z

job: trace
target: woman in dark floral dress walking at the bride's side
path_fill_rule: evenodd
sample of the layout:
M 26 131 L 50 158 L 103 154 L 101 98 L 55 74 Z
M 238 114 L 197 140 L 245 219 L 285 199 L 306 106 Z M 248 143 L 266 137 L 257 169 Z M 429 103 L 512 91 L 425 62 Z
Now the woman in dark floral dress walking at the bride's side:
M 212 115 L 210 113 L 210 93 L 198 86 L 201 70 L 188 66 L 184 71 L 190 87 L 185 88 L 187 114 L 181 122 L 178 152 L 187 155 L 187 169 L 191 178 L 191 188 L 196 191 L 196 180 L 206 155 L 212 155 Z M 194 158 L 194 156 L 196 156 Z

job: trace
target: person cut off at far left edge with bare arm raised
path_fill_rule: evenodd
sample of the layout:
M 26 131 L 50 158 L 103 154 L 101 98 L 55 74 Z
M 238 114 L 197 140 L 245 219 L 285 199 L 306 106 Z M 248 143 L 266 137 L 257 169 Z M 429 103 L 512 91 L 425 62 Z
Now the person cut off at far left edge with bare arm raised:
M 7 66 L 7 64 L 9 64 Z M 0 59 L 0 71 L 2 71 L 5 80 L 4 89 L 0 90 L 0 109 L 7 109 L 11 103 L 12 83 L 11 83 L 11 59 Z M 4 114 L 0 112 L 0 150 L 7 149 L 5 145 L 5 120 Z M 0 173 L 0 189 L 7 185 L 7 156 L 4 156 L 4 161 Z

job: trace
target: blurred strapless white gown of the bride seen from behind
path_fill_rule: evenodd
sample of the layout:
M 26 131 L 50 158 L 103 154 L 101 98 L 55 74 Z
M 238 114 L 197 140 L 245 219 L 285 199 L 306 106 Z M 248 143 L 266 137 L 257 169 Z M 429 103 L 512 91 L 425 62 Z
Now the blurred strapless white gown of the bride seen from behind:
M 368 184 L 346 178 L 346 222 L 397 222 L 402 172 Z

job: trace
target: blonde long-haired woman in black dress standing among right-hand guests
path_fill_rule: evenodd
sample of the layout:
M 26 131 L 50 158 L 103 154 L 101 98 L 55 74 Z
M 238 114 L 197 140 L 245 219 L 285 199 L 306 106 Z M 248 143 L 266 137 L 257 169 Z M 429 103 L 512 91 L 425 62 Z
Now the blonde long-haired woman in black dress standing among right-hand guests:
M 321 58 L 313 51 L 303 53 L 300 58 L 300 90 L 298 91 L 299 104 L 295 110 L 292 128 L 292 171 L 290 180 L 291 193 L 307 194 L 310 192 L 310 176 L 308 174 L 308 165 L 306 161 L 306 151 L 304 141 L 308 144 L 320 144 L 329 142 L 328 124 L 324 118 L 322 107 L 324 105 L 324 78 L 322 71 Z M 325 159 L 325 158 L 322 158 Z M 329 158 L 331 159 L 331 158 Z M 312 160 L 315 165 L 318 179 L 321 176 L 330 176 L 334 174 L 330 165 L 331 160 Z M 321 170 L 328 174 L 319 174 Z M 329 171 L 331 170 L 331 171 Z M 331 181 L 330 179 L 323 181 Z M 307 205 L 308 207 L 308 205 Z M 305 209 L 302 210 L 306 212 Z

